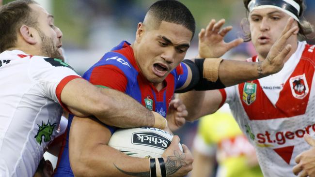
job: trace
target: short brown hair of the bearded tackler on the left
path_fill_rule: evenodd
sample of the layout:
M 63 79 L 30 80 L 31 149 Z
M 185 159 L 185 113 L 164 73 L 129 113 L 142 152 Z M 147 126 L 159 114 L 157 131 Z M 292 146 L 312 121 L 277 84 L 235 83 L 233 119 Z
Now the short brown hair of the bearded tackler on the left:
M 22 25 L 36 26 L 37 20 L 29 4 L 38 3 L 34 0 L 16 0 L 0 7 L 0 52 L 15 46 Z

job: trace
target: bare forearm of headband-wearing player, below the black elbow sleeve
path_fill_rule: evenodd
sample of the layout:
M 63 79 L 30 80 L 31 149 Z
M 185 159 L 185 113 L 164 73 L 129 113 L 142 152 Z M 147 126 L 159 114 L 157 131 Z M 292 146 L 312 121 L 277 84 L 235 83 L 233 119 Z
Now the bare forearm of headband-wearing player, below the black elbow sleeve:
M 186 105 L 186 120 L 193 121 L 219 109 L 222 96 L 219 90 L 189 91 L 179 94 L 179 99 Z

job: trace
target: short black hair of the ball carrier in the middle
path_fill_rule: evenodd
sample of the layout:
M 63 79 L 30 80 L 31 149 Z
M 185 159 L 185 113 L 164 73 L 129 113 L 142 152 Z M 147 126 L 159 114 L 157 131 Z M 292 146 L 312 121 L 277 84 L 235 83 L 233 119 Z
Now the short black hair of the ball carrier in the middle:
M 147 14 L 153 15 L 157 23 L 162 21 L 183 25 L 195 34 L 196 22 L 189 9 L 176 0 L 159 0 L 151 5 Z

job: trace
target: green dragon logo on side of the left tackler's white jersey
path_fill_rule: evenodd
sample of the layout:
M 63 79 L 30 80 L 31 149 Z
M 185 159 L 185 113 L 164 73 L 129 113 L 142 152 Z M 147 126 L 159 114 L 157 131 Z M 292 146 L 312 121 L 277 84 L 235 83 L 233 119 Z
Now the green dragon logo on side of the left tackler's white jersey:
M 44 123 L 44 121 L 42 121 L 42 125 L 37 124 L 38 126 L 38 131 L 37 134 L 34 136 L 34 138 L 36 139 L 37 143 L 39 143 L 39 145 L 42 145 L 42 141 L 43 141 L 43 137 L 44 137 L 44 142 L 47 143 L 48 141 L 51 140 L 51 134 L 55 128 L 57 123 L 54 124 L 50 124 L 49 120 L 47 122 L 47 124 Z

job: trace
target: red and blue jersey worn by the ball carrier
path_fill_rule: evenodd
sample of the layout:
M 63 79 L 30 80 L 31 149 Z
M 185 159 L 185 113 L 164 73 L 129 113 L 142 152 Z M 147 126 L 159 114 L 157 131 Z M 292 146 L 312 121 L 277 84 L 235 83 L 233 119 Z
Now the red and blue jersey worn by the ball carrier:
M 140 72 L 133 49 L 126 41 L 106 53 L 83 75 L 83 78 L 93 85 L 124 92 L 163 117 L 166 117 L 175 90 L 185 84 L 187 77 L 187 66 L 180 63 L 163 81 L 166 87 L 158 91 Z M 73 116 L 69 116 L 65 146 L 59 157 L 55 176 L 73 176 L 68 152 L 68 134 L 72 118 Z M 107 127 L 111 133 L 114 132 L 114 127 Z

